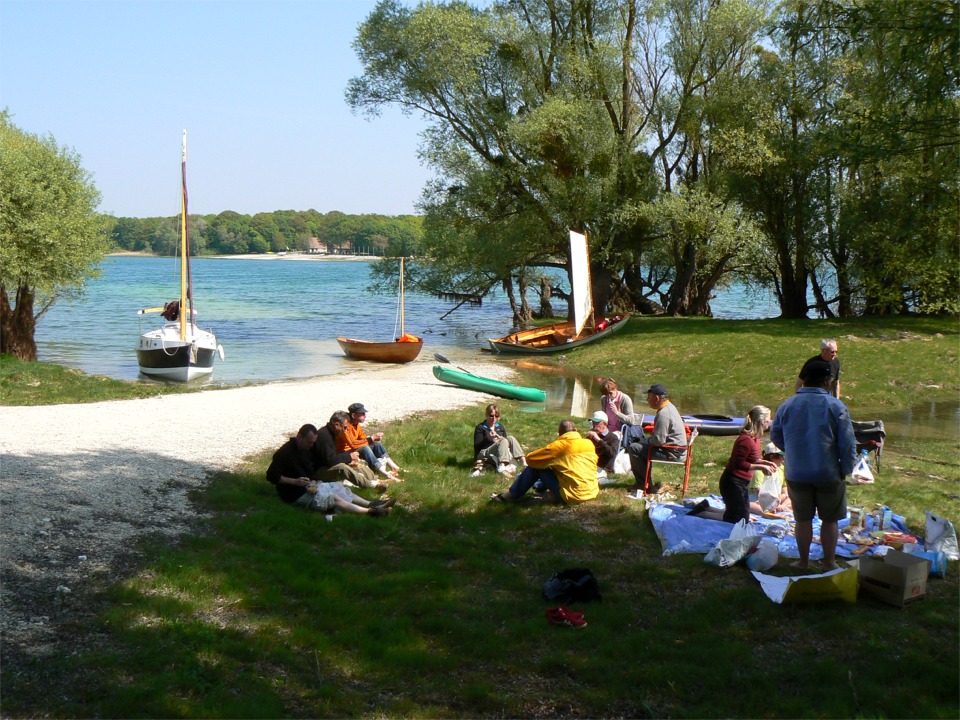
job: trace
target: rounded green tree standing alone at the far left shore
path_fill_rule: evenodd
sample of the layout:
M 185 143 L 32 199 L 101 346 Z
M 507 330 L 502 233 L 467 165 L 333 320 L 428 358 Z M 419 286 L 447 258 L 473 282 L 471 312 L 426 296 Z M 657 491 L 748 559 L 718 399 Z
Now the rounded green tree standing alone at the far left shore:
M 80 156 L 0 113 L 0 353 L 37 359 L 37 322 L 99 275 L 100 193 Z

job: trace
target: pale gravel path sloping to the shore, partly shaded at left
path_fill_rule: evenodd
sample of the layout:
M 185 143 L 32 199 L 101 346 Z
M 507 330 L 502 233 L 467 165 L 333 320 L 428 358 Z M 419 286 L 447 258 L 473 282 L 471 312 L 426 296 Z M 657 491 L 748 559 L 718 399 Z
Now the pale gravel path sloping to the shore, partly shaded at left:
M 466 363 L 507 379 L 509 368 Z M 84 597 L 122 576 L 138 538 L 171 540 L 197 520 L 188 493 L 209 473 L 279 447 L 363 402 L 366 426 L 482 402 L 432 363 L 144 400 L 0 407 L 0 641 L 5 661 L 58 652 Z M 179 426 L 188 429 L 179 430 Z M 389 434 L 386 439 L 390 446 Z

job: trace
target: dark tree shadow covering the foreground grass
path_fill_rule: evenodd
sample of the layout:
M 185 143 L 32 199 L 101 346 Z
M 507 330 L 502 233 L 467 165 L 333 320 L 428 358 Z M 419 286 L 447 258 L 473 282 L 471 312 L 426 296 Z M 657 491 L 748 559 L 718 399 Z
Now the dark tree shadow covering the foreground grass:
M 14 714 L 107 717 L 955 715 L 957 582 L 905 611 L 778 606 L 744 570 L 660 557 L 637 504 L 485 502 L 498 478 L 411 474 L 388 518 L 279 502 L 262 470 L 217 476 L 208 527 L 102 599 L 97 642 Z M 540 588 L 586 566 L 588 627 Z M 931 647 L 950 662 L 917 663 Z M 864 654 L 897 657 L 871 663 Z M 904 681 L 902 664 L 917 668 Z M 91 669 L 97 668 L 94 672 Z M 789 682 L 785 682 L 789 678 Z M 74 680 L 82 679 L 82 684 Z M 731 692 L 736 688 L 736 692 Z M 817 703 L 811 706 L 810 693 Z

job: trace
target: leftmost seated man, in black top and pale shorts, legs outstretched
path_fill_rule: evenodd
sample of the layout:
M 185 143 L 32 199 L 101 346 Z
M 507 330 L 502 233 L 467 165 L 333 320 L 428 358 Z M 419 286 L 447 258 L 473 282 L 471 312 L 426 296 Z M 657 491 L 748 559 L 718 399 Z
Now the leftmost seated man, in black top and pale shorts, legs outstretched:
M 304 425 L 273 454 L 267 468 L 267 480 L 277 486 L 280 499 L 310 510 L 329 513 L 336 510 L 383 517 L 395 504 L 389 500 L 365 500 L 350 492 L 341 482 L 315 479 L 311 448 L 317 441 L 317 428 Z

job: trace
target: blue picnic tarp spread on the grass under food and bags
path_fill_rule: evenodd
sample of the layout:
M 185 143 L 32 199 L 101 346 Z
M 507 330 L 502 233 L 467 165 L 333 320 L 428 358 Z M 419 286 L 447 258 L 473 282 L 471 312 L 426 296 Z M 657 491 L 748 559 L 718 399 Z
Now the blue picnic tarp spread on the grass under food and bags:
M 707 498 L 688 499 L 691 506 L 700 500 L 707 500 L 711 507 L 723 509 L 723 500 L 717 495 L 710 495 Z M 677 555 L 680 553 L 700 553 L 706 554 L 720 540 L 730 537 L 730 531 L 733 524 L 723 522 L 722 520 L 710 520 L 702 517 L 690 517 L 689 507 L 676 505 L 672 503 L 652 503 L 647 508 L 647 514 L 650 522 L 653 523 L 654 532 L 660 538 L 660 544 L 663 546 L 663 555 Z M 785 519 L 773 520 L 770 518 L 751 516 L 758 529 L 762 529 L 763 534 L 776 542 L 777 549 L 781 557 L 798 558 L 800 552 L 797 550 L 797 538 L 793 532 L 793 514 L 782 513 Z M 870 523 L 872 518 L 867 518 L 866 530 L 872 530 Z M 849 520 L 844 519 L 839 522 L 840 530 L 847 527 Z M 910 530 L 904 523 L 903 516 L 893 514 L 893 529 L 909 533 Z M 820 536 L 820 519 L 813 519 L 814 539 Z M 918 539 L 919 540 L 919 539 Z M 837 543 L 837 555 L 840 557 L 858 557 L 858 555 L 876 555 L 882 554 L 884 550 L 877 548 L 883 546 L 874 546 L 862 553 L 854 553 L 861 546 L 855 543 L 844 542 L 844 537 L 840 535 L 840 542 Z M 819 560 L 823 557 L 823 548 L 820 544 L 814 542 L 810 546 L 810 559 Z

